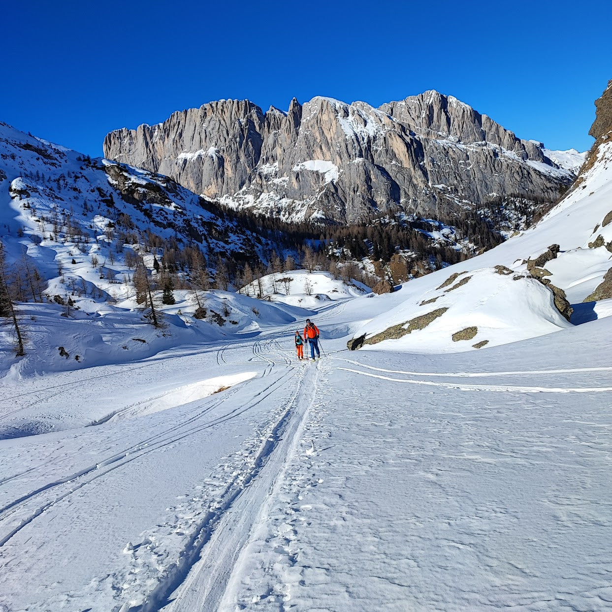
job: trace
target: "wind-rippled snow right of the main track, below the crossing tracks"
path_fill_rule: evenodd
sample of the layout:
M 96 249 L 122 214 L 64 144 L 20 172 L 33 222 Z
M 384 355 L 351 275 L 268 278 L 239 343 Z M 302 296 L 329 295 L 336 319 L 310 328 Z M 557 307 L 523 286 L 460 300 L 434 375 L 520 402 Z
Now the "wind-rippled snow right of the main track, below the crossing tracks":
M 327 392 L 220 611 L 609 609 L 609 411 L 529 400 L 522 386 L 471 386 L 453 401 L 454 386 L 428 381 L 433 391 L 404 395 L 397 384 L 412 381 L 366 386 L 369 373 L 343 361 L 321 364 Z

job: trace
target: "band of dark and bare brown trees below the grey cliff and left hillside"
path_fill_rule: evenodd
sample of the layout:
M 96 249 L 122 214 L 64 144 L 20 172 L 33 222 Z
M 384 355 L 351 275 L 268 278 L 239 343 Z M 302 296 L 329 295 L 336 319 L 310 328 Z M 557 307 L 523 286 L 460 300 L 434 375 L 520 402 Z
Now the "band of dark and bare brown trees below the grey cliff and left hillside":
M 70 177 L 72 178 L 72 176 Z M 44 180 L 40 177 L 40 180 Z M 60 191 L 68 184 L 67 178 L 59 177 L 54 181 Z M 326 270 L 336 278 L 359 280 L 372 286 L 377 277 L 373 276 L 371 268 L 364 265 L 364 260 L 378 262 L 374 270 L 378 276 L 386 274 L 386 266 L 398 252 L 413 263 L 422 264 L 420 274 L 438 269 L 447 264 L 457 263 L 463 259 L 493 247 L 502 241 L 501 235 L 494 229 L 490 217 L 494 214 L 502 218 L 505 214 L 509 198 L 499 198 L 488 203 L 487 214 L 470 209 L 457 214 L 455 211 L 442 211 L 440 219 L 422 219 L 416 215 L 384 214 L 368 223 L 352 226 L 316 226 L 312 223 L 286 223 L 277 218 L 255 216 L 245 211 L 230 211 L 208 203 L 211 212 L 220 218 L 231 220 L 241 230 L 259 236 L 258 257 L 249 258 L 245 254 L 218 251 L 213 261 L 204 252 L 203 244 L 193 237 L 175 234 L 162 237 L 152 228 L 138 228 L 128 214 L 119 212 L 113 204 L 112 194 L 100 193 L 100 200 L 106 205 L 105 215 L 110 217 L 104 230 L 103 241 L 107 252 L 101 263 L 97 255 L 91 255 L 92 267 L 109 283 L 125 283 L 133 286 L 136 302 L 147 309 L 147 318 L 156 327 L 160 324 L 159 308 L 156 308 L 159 293 L 162 294 L 162 304 L 173 304 L 175 289 L 193 291 L 198 308 L 197 313 L 205 312 L 203 308 L 203 293 L 208 289 L 228 290 L 232 287 L 241 288 L 249 285 L 266 274 L 291 271 L 294 267 L 302 267 L 313 271 Z M 28 207 L 24 203 L 24 207 Z M 513 204 L 513 211 L 523 218 L 537 208 L 532 200 L 523 198 L 519 204 Z M 100 204 L 98 204 L 100 208 Z M 94 205 L 83 202 L 84 214 L 94 211 Z M 36 211 L 31 211 L 36 215 Z M 535 214 L 531 214 L 527 222 L 531 222 Z M 93 240 L 89 230 L 93 226 L 83 228 L 83 220 L 76 220 L 73 211 L 66 211 L 59 206 L 51 209 L 47 216 L 39 215 L 43 239 L 70 242 L 81 253 L 88 253 Z M 21 233 L 23 236 L 23 232 Z M 152 253 L 153 269 L 144 265 L 143 254 Z M 129 270 L 119 280 L 113 271 L 117 259 L 122 259 Z M 73 263 L 74 260 L 73 260 Z M 13 320 L 15 332 L 20 336 L 20 351 L 23 351 L 23 341 L 17 327 L 15 310 L 9 304 L 17 302 L 42 302 L 45 297 L 58 304 L 66 306 L 64 315 L 70 314 L 74 302 L 72 297 L 84 296 L 88 292 L 94 299 L 113 301 L 112 295 L 100 288 L 88 285 L 83 281 L 76 282 L 70 278 L 65 296 L 45 296 L 45 280 L 40 272 L 23 255 L 23 265 L 13 271 L 6 262 L 3 263 L 2 308 L 0 316 Z M 413 266 L 414 269 L 414 266 Z M 58 274 L 64 271 L 58 264 Z M 131 276 L 130 276 L 131 274 Z M 408 280 L 411 275 L 409 267 L 403 272 Z M 96 293 L 97 292 L 97 293 Z M 261 292 L 258 297 L 261 296 Z

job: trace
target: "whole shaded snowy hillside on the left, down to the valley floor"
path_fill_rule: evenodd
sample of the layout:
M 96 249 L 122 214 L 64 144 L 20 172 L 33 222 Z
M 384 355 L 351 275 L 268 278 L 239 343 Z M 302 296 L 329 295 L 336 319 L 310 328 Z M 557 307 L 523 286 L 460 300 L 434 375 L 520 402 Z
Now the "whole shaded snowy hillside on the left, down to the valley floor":
M 177 288 L 176 304 L 159 304 L 164 329 L 152 329 L 136 302 L 137 258 L 152 280 L 164 261 L 187 278 L 195 264 L 181 263 L 177 250 L 190 247 L 209 276 L 219 255 L 257 260 L 263 240 L 167 177 L 90 160 L 6 124 L 0 239 L 9 265 L 28 266 L 23 291 L 32 295 L 18 308 L 27 343 L 21 374 L 126 362 L 302 316 L 248 296 Z M 34 271 L 40 279 L 30 286 Z M 195 318 L 198 305 L 204 310 Z M 2 319 L 0 371 L 13 360 L 12 327 Z

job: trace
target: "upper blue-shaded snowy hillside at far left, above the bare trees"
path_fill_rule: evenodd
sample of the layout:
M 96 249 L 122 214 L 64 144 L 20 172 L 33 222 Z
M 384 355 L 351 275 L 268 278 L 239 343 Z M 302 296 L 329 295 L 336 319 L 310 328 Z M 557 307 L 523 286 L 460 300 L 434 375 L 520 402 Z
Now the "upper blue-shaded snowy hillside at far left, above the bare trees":
M 91 160 L 1 122 L 0 171 L 2 237 L 16 236 L 19 229 L 42 237 L 45 230 L 45 239 L 57 238 L 52 242 L 60 243 L 65 231 L 55 236 L 57 223 L 53 222 L 70 217 L 89 241 L 95 242 L 95 236 L 114 226 L 116 231 L 105 237 L 98 250 L 110 245 L 121 230 L 133 229 L 183 243 L 193 241 L 212 257 L 217 253 L 253 256 L 254 246 L 261 242 L 214 204 L 166 176 Z

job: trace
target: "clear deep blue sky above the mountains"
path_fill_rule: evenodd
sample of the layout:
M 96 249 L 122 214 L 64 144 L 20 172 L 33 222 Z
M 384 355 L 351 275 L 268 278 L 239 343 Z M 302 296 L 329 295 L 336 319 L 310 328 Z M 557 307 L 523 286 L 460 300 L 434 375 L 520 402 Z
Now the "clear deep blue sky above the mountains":
M 0 121 L 101 155 L 109 130 L 211 100 L 378 106 L 437 89 L 521 138 L 584 150 L 611 20 L 603 0 L 8 0 Z

